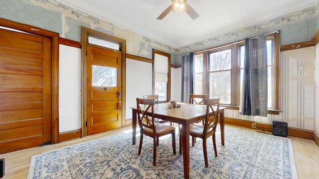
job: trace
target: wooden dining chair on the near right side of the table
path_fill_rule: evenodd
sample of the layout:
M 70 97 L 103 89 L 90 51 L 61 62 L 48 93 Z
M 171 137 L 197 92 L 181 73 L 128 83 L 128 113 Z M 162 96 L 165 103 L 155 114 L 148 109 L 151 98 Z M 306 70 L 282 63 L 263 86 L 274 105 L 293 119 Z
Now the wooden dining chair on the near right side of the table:
M 214 110 L 213 106 L 216 107 Z M 208 159 L 207 159 L 207 138 L 212 136 L 213 146 L 215 157 L 217 157 L 217 148 L 216 148 L 216 140 L 215 140 L 215 131 L 218 122 L 219 115 L 219 98 L 215 99 L 206 99 L 206 115 L 203 122 L 192 123 L 189 125 L 189 135 L 192 136 L 192 146 L 195 145 L 196 137 L 201 138 L 203 140 L 203 151 L 204 151 L 204 160 L 205 167 L 208 167 Z M 181 130 L 181 129 L 179 129 Z M 181 131 L 179 132 L 181 134 Z M 181 141 L 181 135 L 179 135 L 179 141 Z M 181 154 L 181 142 L 179 142 L 179 154 Z

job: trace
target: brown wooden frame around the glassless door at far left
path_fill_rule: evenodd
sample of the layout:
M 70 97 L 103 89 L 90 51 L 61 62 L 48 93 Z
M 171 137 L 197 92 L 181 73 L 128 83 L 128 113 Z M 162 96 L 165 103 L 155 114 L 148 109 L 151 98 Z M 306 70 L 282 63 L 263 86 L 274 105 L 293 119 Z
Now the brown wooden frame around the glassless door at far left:
M 51 79 L 51 92 L 52 92 L 52 137 L 51 143 L 57 144 L 59 142 L 59 33 L 41 29 L 36 26 L 27 25 L 12 20 L 0 17 L 0 26 L 8 27 L 11 29 L 20 30 L 23 32 L 48 37 L 51 39 L 51 60 L 52 60 L 52 79 Z

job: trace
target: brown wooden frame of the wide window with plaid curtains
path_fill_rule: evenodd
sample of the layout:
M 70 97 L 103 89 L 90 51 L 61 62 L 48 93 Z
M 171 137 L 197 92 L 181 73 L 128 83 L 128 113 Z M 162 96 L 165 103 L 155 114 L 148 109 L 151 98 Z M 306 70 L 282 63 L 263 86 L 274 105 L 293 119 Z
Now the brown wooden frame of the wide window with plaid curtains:
M 274 87 L 272 88 L 273 94 L 272 98 L 273 108 L 268 109 L 269 114 L 279 114 L 280 112 L 280 31 L 267 34 L 267 40 L 273 39 L 272 43 L 272 50 L 274 53 L 273 55 L 273 63 L 272 63 L 272 84 Z M 195 52 L 194 56 L 196 55 L 203 55 L 203 94 L 207 94 L 207 98 L 209 98 L 209 54 L 231 49 L 231 102 L 230 105 L 227 106 L 228 109 L 239 109 L 240 106 L 240 67 L 239 67 L 239 55 L 240 55 L 240 47 L 244 45 L 244 40 L 235 41 L 223 45 L 219 45 L 216 47 L 212 47 L 209 50 Z M 195 82 L 194 82 L 195 83 Z M 194 89 L 195 90 L 195 89 Z

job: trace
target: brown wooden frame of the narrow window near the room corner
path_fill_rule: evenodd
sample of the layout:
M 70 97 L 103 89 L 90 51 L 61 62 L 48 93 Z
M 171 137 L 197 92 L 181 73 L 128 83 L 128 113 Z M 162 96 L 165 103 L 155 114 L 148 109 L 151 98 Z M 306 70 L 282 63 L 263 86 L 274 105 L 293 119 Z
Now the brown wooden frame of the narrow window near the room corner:
M 152 93 L 153 95 L 155 94 L 155 54 L 159 54 L 159 55 L 162 55 L 162 56 L 165 56 L 167 57 L 167 84 L 166 84 L 166 100 L 164 101 L 160 101 L 159 100 L 159 103 L 160 102 L 168 102 L 170 101 L 170 54 L 168 53 L 165 53 L 165 52 L 162 52 L 162 51 L 159 51 L 159 50 L 156 50 L 156 49 L 153 49 L 153 83 L 152 83 Z

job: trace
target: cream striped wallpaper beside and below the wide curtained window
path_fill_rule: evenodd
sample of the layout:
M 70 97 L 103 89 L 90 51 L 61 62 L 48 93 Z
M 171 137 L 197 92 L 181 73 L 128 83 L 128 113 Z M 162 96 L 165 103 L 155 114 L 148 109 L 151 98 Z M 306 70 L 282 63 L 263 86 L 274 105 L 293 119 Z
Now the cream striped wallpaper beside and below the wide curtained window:
M 288 122 L 289 127 L 315 130 L 316 82 L 315 47 L 281 52 L 281 109 L 279 115 L 244 116 L 238 110 L 226 110 L 225 116 L 271 124 L 273 120 Z M 317 87 L 318 88 L 318 87 Z

